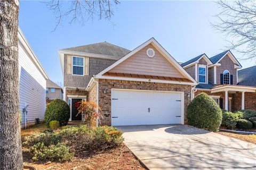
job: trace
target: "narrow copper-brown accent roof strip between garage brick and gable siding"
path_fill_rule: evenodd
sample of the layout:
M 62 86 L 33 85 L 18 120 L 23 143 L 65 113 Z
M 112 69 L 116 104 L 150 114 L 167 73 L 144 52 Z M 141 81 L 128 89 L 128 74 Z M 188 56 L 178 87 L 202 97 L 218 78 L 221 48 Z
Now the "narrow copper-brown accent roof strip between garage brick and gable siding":
M 156 75 L 141 75 L 141 74 L 127 74 L 127 73 L 107 72 L 103 74 L 103 76 L 137 78 L 137 79 L 154 79 L 154 80 L 166 80 L 166 81 L 178 81 L 178 82 L 192 82 L 185 78 L 172 78 L 172 77 L 162 77 L 162 76 L 156 76 Z

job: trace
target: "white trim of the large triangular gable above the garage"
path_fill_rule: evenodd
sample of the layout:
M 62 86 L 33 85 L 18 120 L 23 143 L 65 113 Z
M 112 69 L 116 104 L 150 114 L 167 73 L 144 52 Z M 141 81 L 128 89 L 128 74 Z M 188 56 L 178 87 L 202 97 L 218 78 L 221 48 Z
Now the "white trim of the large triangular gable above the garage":
M 121 59 L 119 59 L 118 61 L 116 61 L 115 63 L 111 64 L 110 66 L 108 66 L 106 69 L 102 70 L 100 73 L 98 73 L 97 75 L 95 75 L 95 78 L 99 78 L 99 79 L 105 79 L 106 76 L 103 76 L 103 74 L 107 73 L 109 70 L 113 69 L 115 66 L 117 66 L 118 64 L 122 63 L 123 61 L 125 61 L 127 58 L 133 56 L 135 53 L 139 52 L 142 48 L 146 47 L 147 45 L 152 44 L 158 51 L 159 53 L 161 53 L 167 61 L 169 61 L 177 70 L 179 70 L 179 72 L 189 81 L 191 81 L 190 83 L 197 85 L 197 82 L 185 71 L 185 69 L 183 69 L 183 67 L 155 40 L 155 38 L 150 38 L 149 40 L 147 40 L 145 43 L 141 44 L 140 46 L 138 46 L 137 48 L 135 48 L 134 50 L 132 50 L 130 53 L 126 54 L 124 57 L 122 57 Z M 129 79 L 129 78 L 127 78 Z M 141 79 L 140 79 L 141 81 Z M 147 79 L 145 79 L 145 81 L 148 81 Z

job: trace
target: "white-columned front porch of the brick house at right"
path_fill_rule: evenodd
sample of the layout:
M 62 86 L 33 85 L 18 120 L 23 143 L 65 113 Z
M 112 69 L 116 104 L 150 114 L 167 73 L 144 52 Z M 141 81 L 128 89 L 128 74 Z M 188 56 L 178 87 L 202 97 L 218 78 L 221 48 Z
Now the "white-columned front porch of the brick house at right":
M 256 92 L 256 88 L 255 87 L 248 87 L 248 86 L 238 86 L 238 85 L 220 85 L 220 86 L 216 86 L 213 89 L 211 89 L 211 93 L 218 93 L 218 92 L 225 92 L 225 98 L 223 98 L 224 100 L 224 108 L 226 111 L 231 111 L 234 110 L 231 108 L 231 105 L 233 105 L 232 103 L 237 103 L 237 102 L 231 102 L 231 98 L 229 97 L 231 96 L 237 96 L 237 94 L 241 94 L 242 97 L 239 98 L 240 102 L 241 102 L 241 106 L 240 108 L 238 108 L 237 106 L 235 106 L 234 108 L 236 109 L 245 109 L 245 92 L 249 92 L 249 93 L 255 93 Z M 236 98 L 232 98 L 232 100 L 237 100 Z

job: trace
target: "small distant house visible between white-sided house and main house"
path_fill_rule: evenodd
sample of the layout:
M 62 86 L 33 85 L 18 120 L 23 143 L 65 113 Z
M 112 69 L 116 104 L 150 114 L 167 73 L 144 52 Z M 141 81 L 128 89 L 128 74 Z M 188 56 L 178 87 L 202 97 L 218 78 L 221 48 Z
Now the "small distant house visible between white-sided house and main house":
M 50 103 L 51 100 L 62 100 L 63 90 L 60 86 L 51 80 L 46 80 L 46 103 Z

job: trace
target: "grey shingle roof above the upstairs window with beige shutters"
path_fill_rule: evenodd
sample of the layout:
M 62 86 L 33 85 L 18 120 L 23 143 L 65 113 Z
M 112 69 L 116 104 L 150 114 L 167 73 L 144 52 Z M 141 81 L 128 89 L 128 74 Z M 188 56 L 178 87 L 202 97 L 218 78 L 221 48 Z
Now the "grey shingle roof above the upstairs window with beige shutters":
M 126 54 L 130 53 L 129 49 L 125 49 L 125 48 L 107 43 L 106 41 L 102 43 L 65 48 L 63 50 L 71 50 L 75 52 L 84 52 L 84 53 L 100 54 L 100 55 L 115 56 L 115 57 L 123 57 Z

